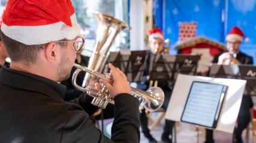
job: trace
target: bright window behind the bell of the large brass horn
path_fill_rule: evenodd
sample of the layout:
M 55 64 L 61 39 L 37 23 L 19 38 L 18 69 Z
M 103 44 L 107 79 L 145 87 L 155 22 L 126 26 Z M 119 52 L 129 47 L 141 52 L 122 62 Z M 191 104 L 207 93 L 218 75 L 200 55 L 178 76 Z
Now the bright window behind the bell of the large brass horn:
M 129 22 L 129 0 L 72 0 L 76 10 L 76 19 L 81 27 L 86 32 L 85 47 L 82 55 L 90 56 L 95 44 L 96 29 L 98 21 L 93 17 L 94 11 L 99 11 L 104 14 L 115 17 L 116 19 Z M 129 23 L 128 23 L 129 24 Z M 130 49 L 130 32 L 121 31 L 115 38 L 110 47 L 111 51 L 115 51 L 116 47 L 121 46 L 123 49 Z

